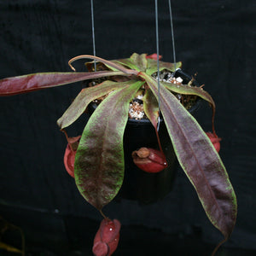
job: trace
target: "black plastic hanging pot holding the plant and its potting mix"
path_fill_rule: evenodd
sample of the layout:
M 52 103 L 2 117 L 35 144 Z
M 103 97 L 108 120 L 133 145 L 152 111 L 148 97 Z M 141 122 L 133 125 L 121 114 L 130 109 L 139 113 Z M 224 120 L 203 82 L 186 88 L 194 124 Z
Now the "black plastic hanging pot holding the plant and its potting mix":
M 175 77 L 181 77 L 186 84 L 191 80 L 191 76 L 183 73 L 180 69 L 177 69 Z M 193 84 L 199 86 L 196 81 Z M 201 100 L 199 99 L 189 109 L 189 113 L 194 113 L 200 104 Z M 143 172 L 133 163 L 131 153 L 142 147 L 159 148 L 154 126 L 148 119 L 128 119 L 124 134 L 125 178 L 119 194 L 116 196 L 117 201 L 124 198 L 149 204 L 164 198 L 172 190 L 178 164 L 163 119 L 160 120 L 159 136 L 168 166 L 158 173 Z

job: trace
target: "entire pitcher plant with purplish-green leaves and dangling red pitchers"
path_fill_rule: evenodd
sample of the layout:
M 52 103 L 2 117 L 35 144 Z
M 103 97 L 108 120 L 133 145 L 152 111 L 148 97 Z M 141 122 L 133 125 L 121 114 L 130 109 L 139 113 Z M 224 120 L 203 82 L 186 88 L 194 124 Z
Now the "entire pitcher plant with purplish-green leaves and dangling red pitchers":
M 183 172 L 194 186 L 207 217 L 224 235 L 226 241 L 236 224 L 236 195 L 224 164 L 214 148 L 216 143 L 219 145 L 219 139 L 213 125 L 215 104 L 212 96 L 203 90 L 202 86 L 197 87 L 193 84 L 160 81 L 158 88 L 158 81 L 153 77 L 158 71 L 154 55 L 133 54 L 130 58 L 114 61 L 93 55 L 80 55 L 69 61 L 70 67 L 73 68 L 73 61 L 81 58 L 97 61 L 96 70 L 93 68 L 93 62 L 89 62 L 86 63 L 88 72 L 33 73 L 2 79 L 0 95 L 13 96 L 78 81 L 99 80 L 94 86 L 86 87 L 79 92 L 66 112 L 57 120 L 57 124 L 61 131 L 65 131 L 65 128 L 79 119 L 90 102 L 101 99 L 85 125 L 81 137 L 74 139 L 67 137 L 65 166 L 74 177 L 84 199 L 102 212 L 102 207 L 113 200 L 122 186 L 125 169 L 123 136 L 129 106 L 138 93 L 143 93 L 143 109 L 154 126 L 156 136 L 158 137 L 157 125 L 161 115 Z M 159 67 L 160 71 L 175 72 L 174 65 L 169 62 L 159 61 Z M 177 62 L 176 67 L 181 67 L 181 62 Z M 211 105 L 211 136 L 202 130 L 196 119 L 177 99 L 176 94 L 196 96 Z M 215 139 L 214 146 L 212 139 Z M 159 137 L 158 140 L 160 145 Z M 165 159 L 160 146 L 146 148 L 146 151 L 143 151 L 145 154 L 140 153 L 139 150 L 135 152 L 133 158 L 135 164 L 146 168 L 146 172 L 149 167 L 151 167 L 150 172 L 160 172 L 167 165 L 168 159 Z M 106 225 L 109 223 L 110 220 Z M 105 223 L 102 224 L 101 229 L 104 229 L 104 225 Z M 119 227 L 117 230 L 119 232 Z M 116 234 L 113 237 L 117 236 Z M 113 246 L 109 254 L 109 247 L 105 246 L 103 241 L 97 239 L 96 242 L 97 250 L 100 251 L 99 247 L 103 247 L 102 250 L 108 253 L 106 255 L 113 253 Z M 110 242 L 112 240 L 107 243 Z

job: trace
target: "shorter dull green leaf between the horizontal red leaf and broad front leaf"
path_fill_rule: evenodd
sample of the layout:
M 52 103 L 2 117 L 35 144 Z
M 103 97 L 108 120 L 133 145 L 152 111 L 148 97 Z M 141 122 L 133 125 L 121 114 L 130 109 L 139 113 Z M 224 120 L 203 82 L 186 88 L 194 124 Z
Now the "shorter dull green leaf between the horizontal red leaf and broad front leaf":
M 119 88 L 125 87 L 126 85 L 134 84 L 134 80 L 128 82 L 113 82 L 104 81 L 102 84 L 97 84 L 96 86 L 84 88 L 80 91 L 79 95 L 76 96 L 72 104 L 67 108 L 66 112 L 63 113 L 60 119 L 57 120 L 57 124 L 64 129 L 65 127 L 72 125 L 79 116 L 84 113 L 88 104 L 93 100 L 107 95 L 112 90 L 117 90 Z

